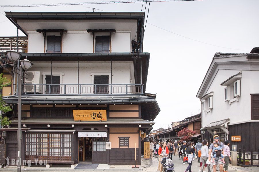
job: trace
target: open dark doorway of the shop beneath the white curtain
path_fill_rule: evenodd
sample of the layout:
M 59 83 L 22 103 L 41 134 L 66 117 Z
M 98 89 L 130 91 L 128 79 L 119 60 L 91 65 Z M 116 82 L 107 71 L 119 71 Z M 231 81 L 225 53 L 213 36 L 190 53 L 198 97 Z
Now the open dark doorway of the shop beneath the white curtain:
M 92 163 L 93 137 L 78 137 L 79 162 Z

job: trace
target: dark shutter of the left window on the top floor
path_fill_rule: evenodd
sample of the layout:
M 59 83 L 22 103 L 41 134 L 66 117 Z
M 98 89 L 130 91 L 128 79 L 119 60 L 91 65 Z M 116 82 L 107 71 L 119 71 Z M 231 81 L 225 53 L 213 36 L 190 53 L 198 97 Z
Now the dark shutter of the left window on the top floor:
M 61 36 L 47 36 L 47 53 L 61 52 Z

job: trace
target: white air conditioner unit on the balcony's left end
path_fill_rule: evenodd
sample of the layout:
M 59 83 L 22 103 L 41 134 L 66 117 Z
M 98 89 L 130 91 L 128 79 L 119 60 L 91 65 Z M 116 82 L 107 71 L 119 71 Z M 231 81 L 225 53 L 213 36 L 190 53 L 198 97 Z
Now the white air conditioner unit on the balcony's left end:
M 27 78 L 27 79 L 26 79 Z M 36 84 L 34 85 L 24 85 L 24 93 L 42 93 L 42 85 L 37 85 L 42 83 L 42 74 L 39 71 L 27 71 L 26 78 L 24 79 L 25 84 Z

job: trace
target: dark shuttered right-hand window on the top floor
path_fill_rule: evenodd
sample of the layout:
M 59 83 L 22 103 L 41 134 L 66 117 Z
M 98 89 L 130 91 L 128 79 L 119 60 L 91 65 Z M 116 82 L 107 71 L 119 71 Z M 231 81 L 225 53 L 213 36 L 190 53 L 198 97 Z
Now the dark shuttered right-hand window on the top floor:
M 110 36 L 95 37 L 95 52 L 110 52 Z

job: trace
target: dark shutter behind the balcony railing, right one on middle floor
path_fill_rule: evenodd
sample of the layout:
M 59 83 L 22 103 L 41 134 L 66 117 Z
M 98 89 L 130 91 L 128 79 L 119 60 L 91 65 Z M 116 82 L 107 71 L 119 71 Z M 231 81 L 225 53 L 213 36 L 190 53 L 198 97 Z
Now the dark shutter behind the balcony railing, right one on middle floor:
M 109 75 L 94 75 L 94 84 L 109 84 Z M 96 85 L 96 93 L 108 94 L 109 85 Z

